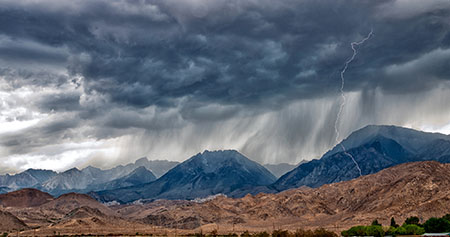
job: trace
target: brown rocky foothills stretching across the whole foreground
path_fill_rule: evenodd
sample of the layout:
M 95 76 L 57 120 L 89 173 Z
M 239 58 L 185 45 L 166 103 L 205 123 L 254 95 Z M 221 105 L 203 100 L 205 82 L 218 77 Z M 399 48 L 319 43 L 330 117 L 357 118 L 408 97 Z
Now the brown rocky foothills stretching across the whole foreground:
M 405 163 L 354 180 L 301 187 L 278 194 L 210 199 L 156 200 L 105 206 L 85 194 L 45 199 L 38 190 L 2 195 L 20 207 L 2 204 L 7 226 L 23 234 L 58 233 L 193 233 L 218 229 L 224 233 L 325 227 L 340 231 L 378 219 L 388 225 L 415 215 L 422 220 L 450 213 L 450 164 Z M 22 190 L 21 190 L 22 191 Z M 6 198 L 5 198 L 6 197 Z M 45 197 L 45 195 L 44 195 Z M 44 202 L 40 205 L 36 203 Z M 28 203 L 28 204 L 27 204 Z M 38 229 L 30 229 L 36 228 Z M 33 231 L 33 232 L 31 232 Z M 36 233 L 37 232 L 37 233 Z

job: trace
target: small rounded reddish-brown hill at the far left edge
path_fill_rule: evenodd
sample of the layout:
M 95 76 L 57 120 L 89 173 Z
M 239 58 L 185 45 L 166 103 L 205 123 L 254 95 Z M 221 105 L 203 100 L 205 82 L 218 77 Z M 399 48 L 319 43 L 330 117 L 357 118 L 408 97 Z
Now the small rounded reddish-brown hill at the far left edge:
M 0 194 L 0 205 L 4 207 L 36 207 L 50 202 L 53 197 L 33 188 L 25 188 Z

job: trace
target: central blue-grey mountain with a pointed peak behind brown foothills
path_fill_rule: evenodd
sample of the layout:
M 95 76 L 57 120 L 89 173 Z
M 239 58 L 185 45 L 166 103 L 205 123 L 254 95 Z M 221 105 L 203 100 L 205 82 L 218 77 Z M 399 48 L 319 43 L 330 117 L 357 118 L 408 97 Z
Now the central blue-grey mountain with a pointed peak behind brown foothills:
M 269 185 L 275 180 L 266 168 L 235 150 L 204 151 L 152 183 L 92 195 L 103 202 L 121 203 L 139 199 L 194 199 L 219 193 L 232 195 L 236 190 Z

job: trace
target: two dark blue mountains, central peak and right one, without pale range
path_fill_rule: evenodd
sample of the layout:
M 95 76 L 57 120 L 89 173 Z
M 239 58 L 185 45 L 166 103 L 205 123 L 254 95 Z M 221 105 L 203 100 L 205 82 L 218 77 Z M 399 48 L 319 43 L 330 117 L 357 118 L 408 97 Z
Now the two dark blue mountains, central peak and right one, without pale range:
M 104 202 L 121 203 L 140 199 L 205 198 L 216 194 L 243 197 L 248 193 L 276 193 L 301 186 L 320 187 L 351 180 L 360 176 L 358 168 L 362 175 L 367 175 L 406 162 L 435 160 L 447 163 L 450 162 L 449 155 L 448 135 L 372 125 L 353 132 L 320 159 L 302 162 L 272 183 L 270 180 L 274 178 L 267 175 L 267 169 L 248 162 L 250 160 L 237 151 L 206 151 L 152 183 L 91 195 Z M 218 157 L 226 162 L 217 162 Z M 253 175 L 266 177 L 264 182 L 253 182 L 247 172 L 249 167 L 253 167 Z

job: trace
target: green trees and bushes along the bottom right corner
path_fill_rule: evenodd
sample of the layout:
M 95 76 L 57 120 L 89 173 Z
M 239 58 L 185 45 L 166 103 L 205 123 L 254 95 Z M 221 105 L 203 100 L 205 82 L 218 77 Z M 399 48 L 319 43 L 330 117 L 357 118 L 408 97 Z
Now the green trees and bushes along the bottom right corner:
M 422 235 L 424 233 L 444 233 L 450 232 L 450 214 L 441 218 L 432 217 L 420 223 L 417 216 L 409 217 L 403 225 L 398 225 L 394 218 L 391 218 L 390 226 L 382 226 L 377 220 L 374 220 L 369 226 L 353 226 L 348 230 L 341 232 L 342 236 L 375 236 L 385 235 Z

